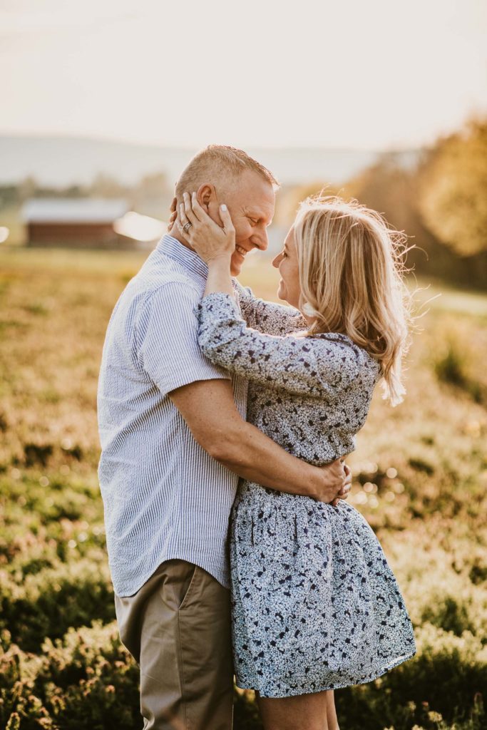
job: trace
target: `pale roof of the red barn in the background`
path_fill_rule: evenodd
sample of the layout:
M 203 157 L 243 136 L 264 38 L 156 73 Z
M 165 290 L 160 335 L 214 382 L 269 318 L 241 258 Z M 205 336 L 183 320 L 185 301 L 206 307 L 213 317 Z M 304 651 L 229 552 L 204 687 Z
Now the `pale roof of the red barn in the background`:
M 24 204 L 22 217 L 26 223 L 113 223 L 127 210 L 122 199 L 34 198 Z

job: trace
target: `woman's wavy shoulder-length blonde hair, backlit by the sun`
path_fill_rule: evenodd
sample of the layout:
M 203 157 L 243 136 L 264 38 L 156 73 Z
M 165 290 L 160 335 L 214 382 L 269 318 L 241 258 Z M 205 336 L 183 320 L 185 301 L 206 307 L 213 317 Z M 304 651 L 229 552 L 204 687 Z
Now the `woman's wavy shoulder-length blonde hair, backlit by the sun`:
M 384 398 L 402 401 L 411 296 L 403 281 L 407 236 L 356 200 L 313 196 L 294 221 L 299 308 L 316 319 L 307 334 L 341 332 L 380 362 Z

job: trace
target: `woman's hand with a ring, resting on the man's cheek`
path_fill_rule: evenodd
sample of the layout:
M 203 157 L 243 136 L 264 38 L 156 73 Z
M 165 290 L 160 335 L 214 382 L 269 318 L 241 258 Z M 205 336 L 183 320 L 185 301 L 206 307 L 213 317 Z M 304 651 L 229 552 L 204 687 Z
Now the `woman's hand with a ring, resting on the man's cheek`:
M 230 266 L 235 250 L 235 228 L 226 205 L 220 206 L 222 228 L 203 210 L 196 193 L 191 198 L 188 193 L 183 193 L 183 198 L 177 221 L 180 234 L 209 266 L 222 260 Z

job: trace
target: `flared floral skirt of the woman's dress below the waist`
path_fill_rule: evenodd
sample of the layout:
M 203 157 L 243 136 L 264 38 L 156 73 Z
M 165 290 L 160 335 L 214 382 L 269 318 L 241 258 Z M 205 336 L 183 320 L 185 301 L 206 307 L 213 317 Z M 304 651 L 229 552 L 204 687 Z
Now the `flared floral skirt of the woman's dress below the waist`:
M 239 486 L 231 515 L 237 685 L 288 697 L 374 680 L 415 654 L 369 523 L 347 502 Z

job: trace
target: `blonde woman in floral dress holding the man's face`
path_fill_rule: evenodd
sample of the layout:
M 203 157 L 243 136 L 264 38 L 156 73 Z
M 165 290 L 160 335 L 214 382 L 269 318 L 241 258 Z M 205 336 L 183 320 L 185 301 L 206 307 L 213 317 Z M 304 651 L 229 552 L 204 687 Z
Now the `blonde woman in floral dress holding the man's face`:
M 356 202 L 308 199 L 273 261 L 278 296 L 302 317 L 240 288 L 248 328 L 229 273 L 234 229 L 224 205 L 220 215 L 223 228 L 185 194 L 180 230 L 208 264 L 202 350 L 249 381 L 248 420 L 294 456 L 316 465 L 346 456 L 376 383 L 391 404 L 404 393 L 408 317 L 395 234 Z M 342 499 L 324 504 L 242 481 L 230 553 L 237 684 L 256 690 L 266 730 L 337 730 L 335 688 L 369 682 L 415 653 L 383 550 Z

